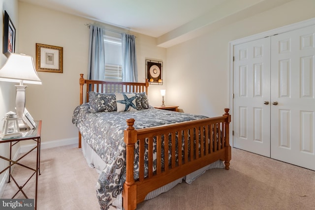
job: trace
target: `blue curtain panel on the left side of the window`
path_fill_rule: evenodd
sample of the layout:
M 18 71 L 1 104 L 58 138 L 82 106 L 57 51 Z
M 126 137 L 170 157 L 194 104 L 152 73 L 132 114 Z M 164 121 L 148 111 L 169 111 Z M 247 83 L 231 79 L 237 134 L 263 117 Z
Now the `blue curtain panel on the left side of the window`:
M 89 47 L 89 72 L 90 80 L 105 80 L 105 57 L 104 57 L 103 30 L 94 25 L 90 26 Z

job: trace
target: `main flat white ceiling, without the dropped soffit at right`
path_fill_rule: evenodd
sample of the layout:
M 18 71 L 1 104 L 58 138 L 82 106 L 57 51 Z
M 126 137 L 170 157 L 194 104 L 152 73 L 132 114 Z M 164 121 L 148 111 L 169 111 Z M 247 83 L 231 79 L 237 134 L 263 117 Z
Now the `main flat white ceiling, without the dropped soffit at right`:
M 158 37 L 227 0 L 20 0 Z

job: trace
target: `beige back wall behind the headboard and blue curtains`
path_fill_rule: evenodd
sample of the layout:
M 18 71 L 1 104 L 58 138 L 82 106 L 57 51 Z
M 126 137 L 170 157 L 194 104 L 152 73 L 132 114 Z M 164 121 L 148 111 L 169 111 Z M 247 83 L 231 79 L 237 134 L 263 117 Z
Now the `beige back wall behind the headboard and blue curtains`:
M 79 104 L 79 74 L 88 74 L 90 31 L 85 24 L 95 22 L 24 2 L 19 2 L 19 22 L 19 53 L 32 56 L 34 62 L 36 43 L 63 47 L 63 73 L 38 72 L 42 85 L 29 85 L 27 88 L 26 107 L 35 120 L 43 120 L 42 148 L 46 142 L 62 141 L 59 143 L 63 144 L 76 141 L 78 130 L 71 120 Z M 107 27 L 100 23 L 97 25 Z M 111 27 L 111 30 L 120 29 Z M 166 50 L 156 47 L 152 37 L 135 35 L 138 77 L 139 82 L 144 82 L 145 59 L 165 61 Z M 153 104 L 156 89 L 151 88 L 149 92 Z

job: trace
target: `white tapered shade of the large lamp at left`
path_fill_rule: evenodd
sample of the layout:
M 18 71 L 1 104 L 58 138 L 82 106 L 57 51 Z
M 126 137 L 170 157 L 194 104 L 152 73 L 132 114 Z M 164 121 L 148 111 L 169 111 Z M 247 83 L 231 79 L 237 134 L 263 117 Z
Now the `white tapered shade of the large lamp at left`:
M 32 57 L 16 53 L 12 53 L 0 69 L 0 81 L 41 85 Z

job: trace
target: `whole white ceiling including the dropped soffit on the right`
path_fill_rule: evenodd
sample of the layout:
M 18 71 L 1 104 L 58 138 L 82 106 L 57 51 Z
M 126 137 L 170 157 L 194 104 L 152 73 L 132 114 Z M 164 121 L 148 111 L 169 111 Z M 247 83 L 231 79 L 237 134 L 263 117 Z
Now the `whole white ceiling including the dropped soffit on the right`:
M 19 0 L 157 37 L 169 47 L 290 0 Z M 209 27 L 210 26 L 210 27 Z

